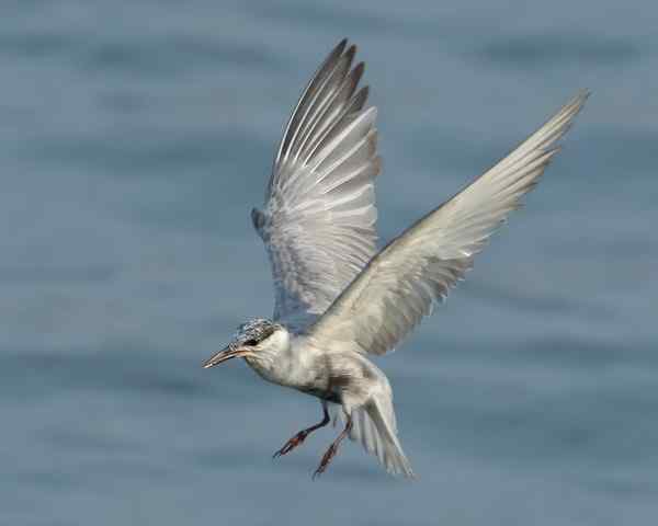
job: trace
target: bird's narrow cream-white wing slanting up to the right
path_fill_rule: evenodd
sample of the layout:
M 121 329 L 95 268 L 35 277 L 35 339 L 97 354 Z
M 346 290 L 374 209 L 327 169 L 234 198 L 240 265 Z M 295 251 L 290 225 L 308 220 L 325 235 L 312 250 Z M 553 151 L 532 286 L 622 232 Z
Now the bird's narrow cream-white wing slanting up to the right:
M 557 140 L 582 107 L 580 93 L 502 161 L 379 252 L 310 328 L 325 348 L 384 354 L 470 268 L 508 214 L 520 206 Z

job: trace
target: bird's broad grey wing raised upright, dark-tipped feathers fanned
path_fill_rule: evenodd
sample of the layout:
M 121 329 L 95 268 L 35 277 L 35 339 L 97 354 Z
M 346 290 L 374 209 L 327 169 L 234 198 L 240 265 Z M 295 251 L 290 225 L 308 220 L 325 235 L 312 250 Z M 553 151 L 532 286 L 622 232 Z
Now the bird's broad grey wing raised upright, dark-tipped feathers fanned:
M 275 288 L 274 318 L 300 327 L 327 310 L 375 254 L 376 108 L 356 90 L 363 62 L 342 41 L 287 124 L 263 210 L 251 213 Z

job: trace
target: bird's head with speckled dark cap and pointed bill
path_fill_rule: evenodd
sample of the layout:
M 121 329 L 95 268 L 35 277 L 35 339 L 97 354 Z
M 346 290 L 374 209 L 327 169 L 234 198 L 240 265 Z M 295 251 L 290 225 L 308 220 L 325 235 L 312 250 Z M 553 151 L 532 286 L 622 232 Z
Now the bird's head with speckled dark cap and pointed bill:
M 268 351 L 282 346 L 283 340 L 287 340 L 287 331 L 283 325 L 257 318 L 242 323 L 238 328 L 232 342 L 215 353 L 203 364 L 203 367 L 207 369 L 227 359 L 238 357 L 246 358 L 247 362 L 258 361 Z

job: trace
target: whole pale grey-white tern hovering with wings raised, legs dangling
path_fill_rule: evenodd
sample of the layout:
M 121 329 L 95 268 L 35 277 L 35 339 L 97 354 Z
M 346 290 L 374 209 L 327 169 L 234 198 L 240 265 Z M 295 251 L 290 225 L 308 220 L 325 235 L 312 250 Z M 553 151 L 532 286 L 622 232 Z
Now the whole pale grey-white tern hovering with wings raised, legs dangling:
M 413 477 L 386 375 L 368 359 L 393 351 L 464 277 L 508 214 L 557 153 L 581 92 L 504 159 L 376 250 L 377 110 L 359 88 L 364 65 L 340 42 L 308 82 L 285 127 L 261 209 L 251 211 L 272 266 L 272 320 L 239 327 L 209 368 L 241 357 L 263 379 L 319 399 L 321 422 L 344 424 L 322 473 L 349 436 L 392 474 Z M 330 414 L 333 413 L 333 419 Z

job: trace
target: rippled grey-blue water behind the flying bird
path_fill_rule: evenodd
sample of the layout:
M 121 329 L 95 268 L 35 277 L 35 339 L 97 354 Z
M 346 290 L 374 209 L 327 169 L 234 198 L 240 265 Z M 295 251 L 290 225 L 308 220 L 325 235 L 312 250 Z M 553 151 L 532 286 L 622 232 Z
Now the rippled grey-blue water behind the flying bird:
M 4 0 L 1 525 L 648 525 L 658 519 L 658 8 Z M 420 478 L 245 364 L 249 209 L 324 55 L 381 108 L 382 239 L 593 91 L 527 206 L 395 354 Z

